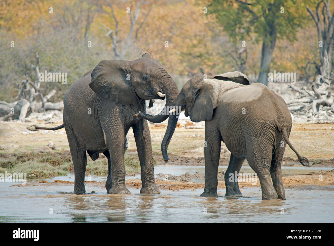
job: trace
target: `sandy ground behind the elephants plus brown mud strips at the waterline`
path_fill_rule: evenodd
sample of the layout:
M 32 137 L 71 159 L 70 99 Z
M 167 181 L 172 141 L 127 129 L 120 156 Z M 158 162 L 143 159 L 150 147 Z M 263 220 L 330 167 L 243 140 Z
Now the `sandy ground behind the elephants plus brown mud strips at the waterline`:
M 51 124 L 45 124 L 45 122 L 37 122 L 40 126 L 55 127 L 62 122 L 53 122 Z M 6 160 L 17 156 L 18 162 L 24 158 L 37 158 L 38 155 L 32 155 L 31 153 L 50 153 L 50 156 L 64 156 L 66 160 L 70 161 L 70 153 L 68 142 L 65 134 L 65 130 L 58 131 L 37 131 L 28 132 L 25 128 L 30 126 L 31 122 L 0 122 L 0 163 L 6 163 Z M 170 142 L 168 154 L 169 164 L 174 165 L 204 165 L 204 128 L 201 128 L 204 122 L 197 124 L 200 127 L 198 129 L 186 129 L 191 127 L 192 124 L 183 122 L 180 127 L 176 128 L 174 136 Z M 330 124 L 293 124 L 292 132 L 290 135 L 290 141 L 299 151 L 302 156 L 309 159 L 310 165 L 313 167 L 334 167 L 334 123 Z M 162 138 L 166 131 L 166 124 L 150 125 L 153 158 L 156 164 L 164 164 L 160 145 Z M 130 129 L 127 135 L 129 141 L 129 147 L 126 152 L 128 157 L 137 157 L 137 149 L 134 141 L 132 130 Z M 52 143 L 53 148 L 49 145 Z M 230 152 L 226 146 L 222 143 L 220 165 L 228 165 Z M 39 157 L 40 158 L 40 157 Z M 89 157 L 88 157 L 89 158 Z M 52 159 L 52 158 L 51 158 Z M 99 161 L 101 164 L 105 164 L 107 167 L 107 160 L 100 155 Z M 46 160 L 50 165 L 57 166 L 54 162 L 58 160 Z M 105 162 L 105 163 L 104 163 Z M 283 166 L 296 165 L 298 162 L 295 153 L 287 146 Z M 243 165 L 248 165 L 247 162 Z M 103 165 L 104 166 L 104 165 Z M 101 173 L 102 174 L 102 173 Z M 103 173 L 105 175 L 105 173 Z M 134 175 L 127 173 L 128 176 Z M 176 177 L 176 180 L 164 180 L 164 175 L 161 174 L 161 178 L 156 179 L 157 185 L 160 189 L 197 189 L 204 188 L 204 183 L 189 182 L 191 178 L 204 179 L 204 174 L 194 174 L 187 177 L 184 174 L 182 177 Z M 223 178 L 223 174 L 219 174 Z M 319 176 L 322 175 L 322 176 Z M 181 175 L 180 175 L 181 176 Z M 93 182 L 93 181 L 92 181 Z M 309 175 L 291 175 L 283 177 L 285 187 L 304 186 L 304 185 L 334 185 L 334 170 L 316 172 Z M 130 179 L 126 181 L 129 186 L 141 187 L 140 179 Z M 49 185 L 47 183 L 41 183 L 41 185 Z M 105 185 L 104 183 L 101 185 Z M 240 182 L 240 189 L 244 186 L 260 186 L 260 182 L 257 179 L 256 184 L 254 182 Z M 224 188 L 224 182 L 218 182 L 218 188 Z

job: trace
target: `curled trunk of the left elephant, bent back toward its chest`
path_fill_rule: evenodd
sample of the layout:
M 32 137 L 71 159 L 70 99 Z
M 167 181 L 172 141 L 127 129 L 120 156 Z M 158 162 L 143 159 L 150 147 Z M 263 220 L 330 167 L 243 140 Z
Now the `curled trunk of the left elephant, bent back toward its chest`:
M 138 116 L 147 119 L 153 123 L 160 123 L 168 118 L 168 109 L 170 108 L 179 94 L 179 89 L 175 84 L 174 80 L 168 75 L 168 73 L 164 74 L 163 77 L 163 86 L 162 86 L 162 93 L 166 94 L 166 104 L 161 112 L 157 115 L 150 115 L 147 113 L 139 112 Z

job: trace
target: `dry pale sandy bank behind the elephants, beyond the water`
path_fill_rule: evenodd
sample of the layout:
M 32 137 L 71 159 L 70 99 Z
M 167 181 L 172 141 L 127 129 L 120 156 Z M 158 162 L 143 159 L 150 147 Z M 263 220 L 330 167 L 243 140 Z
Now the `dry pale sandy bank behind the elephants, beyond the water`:
M 180 120 L 181 121 L 181 120 Z M 204 128 L 186 129 L 192 127 L 188 121 L 181 121 L 181 126 L 176 128 L 175 134 L 169 144 L 168 163 L 178 165 L 204 165 L 203 143 L 205 138 Z M 69 155 L 69 147 L 64 129 L 58 131 L 37 131 L 30 132 L 26 129 L 32 122 L 0 121 L 0 161 L 11 158 L 14 153 L 27 153 L 32 151 L 45 152 L 52 142 L 53 153 Z M 45 124 L 45 122 L 34 122 L 34 124 L 55 127 L 62 124 L 62 121 Z M 188 125 L 187 125 L 188 124 Z M 204 122 L 194 124 L 196 127 L 203 127 Z M 166 131 L 166 124 L 149 124 L 152 141 L 153 158 L 156 163 L 164 164 L 161 155 L 161 141 Z M 290 134 L 290 141 L 302 156 L 309 159 L 313 166 L 334 167 L 334 123 L 330 124 L 299 124 L 294 123 Z M 127 135 L 129 148 L 128 156 L 137 156 L 137 148 L 133 132 L 130 129 Z M 103 155 L 101 156 L 103 158 Z M 220 163 L 227 165 L 230 152 L 224 143 L 221 145 Z M 283 159 L 283 166 L 293 165 L 298 162 L 296 154 L 287 146 Z M 244 165 L 247 165 L 245 161 Z

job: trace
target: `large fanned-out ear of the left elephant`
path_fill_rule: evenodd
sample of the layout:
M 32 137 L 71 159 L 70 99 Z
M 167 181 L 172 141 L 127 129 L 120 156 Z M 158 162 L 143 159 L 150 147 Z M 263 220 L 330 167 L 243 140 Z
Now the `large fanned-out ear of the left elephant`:
M 127 80 L 126 69 L 129 61 L 101 61 L 92 72 L 91 89 L 110 100 L 122 105 L 137 105 L 139 98 L 133 90 L 130 80 Z

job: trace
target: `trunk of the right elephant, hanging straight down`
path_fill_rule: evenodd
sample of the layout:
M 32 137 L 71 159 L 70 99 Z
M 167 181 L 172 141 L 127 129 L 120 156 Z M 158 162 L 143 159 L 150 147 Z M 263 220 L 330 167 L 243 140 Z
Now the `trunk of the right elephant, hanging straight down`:
M 179 108 L 180 110 L 176 110 L 175 112 L 169 115 L 166 133 L 161 142 L 161 153 L 166 163 L 169 160 L 168 155 L 167 155 L 167 149 L 168 149 L 169 142 L 173 137 L 173 134 L 176 128 L 176 124 L 177 124 L 177 120 L 179 119 L 179 114 L 181 113 L 181 111 L 185 109 L 185 104 L 182 106 L 178 106 L 180 105 L 180 103 L 178 103 L 179 101 L 178 99 L 179 98 L 175 100 L 176 101 L 175 108 Z

